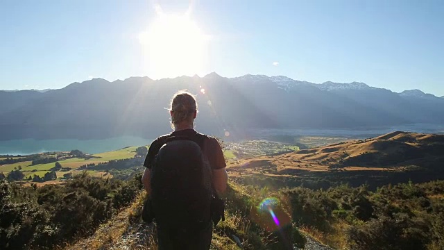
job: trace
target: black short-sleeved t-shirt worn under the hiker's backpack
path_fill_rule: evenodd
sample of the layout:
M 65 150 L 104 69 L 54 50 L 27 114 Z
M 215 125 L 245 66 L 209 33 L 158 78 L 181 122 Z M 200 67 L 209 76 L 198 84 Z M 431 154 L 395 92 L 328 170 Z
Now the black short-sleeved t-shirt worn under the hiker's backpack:
M 146 155 L 144 162 L 145 167 L 151 169 L 151 164 L 153 163 L 155 156 L 159 152 L 160 148 L 165 144 L 167 138 L 169 138 L 171 135 L 186 136 L 189 138 L 193 138 L 194 136 L 196 136 L 196 131 L 194 131 L 194 129 L 192 128 L 184 129 L 181 131 L 174 131 L 173 133 L 170 133 L 168 135 L 162 135 L 153 142 L 151 142 L 151 145 L 148 149 L 148 154 Z M 210 136 L 208 138 L 209 139 L 205 140 L 203 144 L 203 153 L 205 154 L 205 156 L 207 156 L 212 169 L 223 169 L 224 167 L 226 167 L 226 164 L 225 164 L 225 158 L 223 158 L 221 145 L 216 140 L 216 138 Z

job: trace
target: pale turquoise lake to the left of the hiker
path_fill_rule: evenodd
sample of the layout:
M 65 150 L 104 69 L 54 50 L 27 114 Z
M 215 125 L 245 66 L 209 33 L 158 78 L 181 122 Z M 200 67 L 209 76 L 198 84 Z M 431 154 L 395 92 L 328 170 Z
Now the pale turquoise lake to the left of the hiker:
M 124 147 L 149 145 L 151 142 L 153 142 L 153 140 L 133 136 L 102 140 L 7 140 L 0 141 L 0 155 L 28 155 L 52 151 L 71 151 L 72 149 L 78 149 L 85 153 L 101 153 L 122 149 Z

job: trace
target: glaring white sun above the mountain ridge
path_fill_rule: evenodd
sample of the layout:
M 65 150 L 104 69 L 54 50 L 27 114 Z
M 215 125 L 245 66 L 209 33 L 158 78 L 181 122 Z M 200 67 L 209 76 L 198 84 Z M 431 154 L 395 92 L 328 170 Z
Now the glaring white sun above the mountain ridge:
M 147 31 L 139 33 L 155 78 L 193 76 L 203 71 L 207 36 L 189 15 L 161 11 Z

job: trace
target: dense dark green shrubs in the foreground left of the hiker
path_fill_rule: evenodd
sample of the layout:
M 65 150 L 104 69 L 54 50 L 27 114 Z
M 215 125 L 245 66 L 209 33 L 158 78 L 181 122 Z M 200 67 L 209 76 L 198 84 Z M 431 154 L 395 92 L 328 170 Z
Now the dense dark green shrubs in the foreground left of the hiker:
M 83 173 L 42 188 L 0 181 L 0 249 L 51 249 L 93 233 L 141 188 L 139 175 L 123 182 Z

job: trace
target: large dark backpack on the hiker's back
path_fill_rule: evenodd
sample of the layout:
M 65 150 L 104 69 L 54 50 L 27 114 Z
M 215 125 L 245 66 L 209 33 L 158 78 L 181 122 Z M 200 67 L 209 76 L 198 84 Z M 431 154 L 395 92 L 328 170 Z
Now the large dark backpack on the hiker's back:
M 206 135 L 171 136 L 151 168 L 151 202 L 161 228 L 207 228 L 212 219 L 211 168 L 203 154 Z

